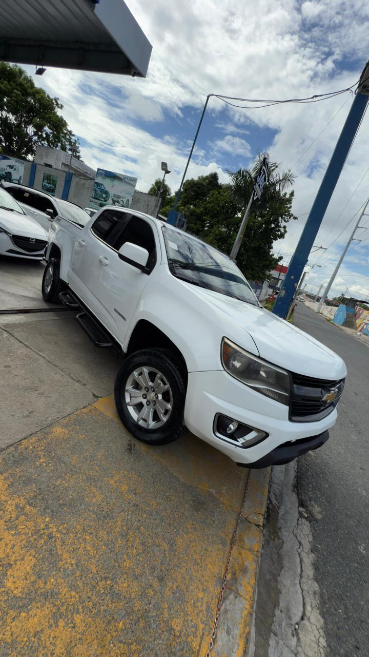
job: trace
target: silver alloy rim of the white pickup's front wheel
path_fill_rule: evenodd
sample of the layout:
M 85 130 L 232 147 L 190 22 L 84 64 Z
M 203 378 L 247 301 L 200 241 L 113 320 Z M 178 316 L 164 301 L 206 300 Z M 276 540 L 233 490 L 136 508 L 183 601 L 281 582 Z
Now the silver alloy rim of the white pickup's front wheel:
M 158 429 L 169 420 L 173 407 L 171 387 L 155 367 L 142 365 L 129 374 L 124 399 L 129 415 L 142 428 Z

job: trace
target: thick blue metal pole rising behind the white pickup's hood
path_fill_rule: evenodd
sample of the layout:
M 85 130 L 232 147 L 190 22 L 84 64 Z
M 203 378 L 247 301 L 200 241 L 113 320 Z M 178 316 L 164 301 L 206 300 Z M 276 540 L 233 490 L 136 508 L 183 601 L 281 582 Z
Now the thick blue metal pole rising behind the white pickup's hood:
M 328 208 L 328 203 L 334 193 L 337 180 L 339 179 L 339 175 L 341 174 L 343 165 L 345 164 L 345 160 L 355 139 L 358 126 L 364 116 L 368 98 L 367 95 L 357 92 L 353 100 L 353 104 L 351 105 L 349 114 L 345 120 L 345 125 L 343 125 L 341 135 L 339 135 L 336 148 L 334 149 L 332 158 L 330 159 L 330 163 L 324 174 L 324 178 L 320 183 L 313 207 L 311 208 L 309 217 L 307 217 L 305 228 L 303 229 L 295 253 L 292 256 L 290 266 L 286 273 L 286 278 L 284 279 L 278 297 L 274 303 L 272 312 L 275 315 L 278 315 L 278 317 L 287 317 L 288 309 L 292 304 L 293 295 L 295 294 L 301 274 L 303 273 L 303 268 L 309 258 L 311 247 L 314 244 L 316 233 L 318 233 L 320 224 L 322 223 L 322 219 Z

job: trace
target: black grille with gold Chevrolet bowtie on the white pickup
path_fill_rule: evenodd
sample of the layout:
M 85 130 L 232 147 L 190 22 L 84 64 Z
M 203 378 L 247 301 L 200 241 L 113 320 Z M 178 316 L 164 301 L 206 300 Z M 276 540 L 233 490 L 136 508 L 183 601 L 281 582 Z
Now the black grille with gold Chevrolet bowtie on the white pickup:
M 332 413 L 341 397 L 345 379 L 326 379 L 293 374 L 290 397 L 292 422 L 316 422 Z

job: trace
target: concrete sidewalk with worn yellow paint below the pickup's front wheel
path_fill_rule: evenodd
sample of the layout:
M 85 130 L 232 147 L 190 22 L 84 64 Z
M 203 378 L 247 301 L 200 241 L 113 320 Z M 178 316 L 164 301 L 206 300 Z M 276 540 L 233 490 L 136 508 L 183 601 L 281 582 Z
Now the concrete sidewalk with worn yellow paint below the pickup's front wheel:
M 0 458 L 5 657 L 203 657 L 248 471 L 137 442 L 112 397 Z M 269 469 L 251 472 L 212 654 L 245 654 Z

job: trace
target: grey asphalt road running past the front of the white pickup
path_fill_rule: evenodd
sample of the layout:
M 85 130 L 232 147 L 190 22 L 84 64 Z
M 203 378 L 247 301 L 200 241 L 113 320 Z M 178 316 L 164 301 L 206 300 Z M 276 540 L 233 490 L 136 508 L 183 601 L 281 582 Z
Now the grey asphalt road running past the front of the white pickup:
M 336 351 L 347 379 L 330 440 L 298 460 L 329 657 L 369 654 L 369 347 L 298 304 L 295 325 Z

